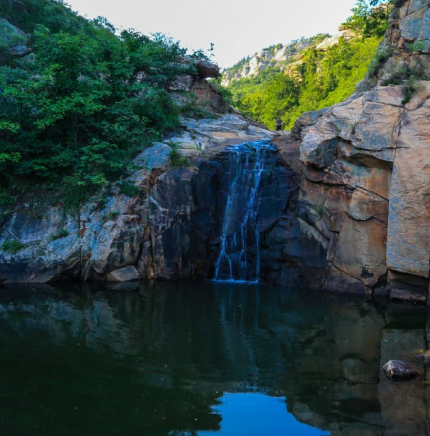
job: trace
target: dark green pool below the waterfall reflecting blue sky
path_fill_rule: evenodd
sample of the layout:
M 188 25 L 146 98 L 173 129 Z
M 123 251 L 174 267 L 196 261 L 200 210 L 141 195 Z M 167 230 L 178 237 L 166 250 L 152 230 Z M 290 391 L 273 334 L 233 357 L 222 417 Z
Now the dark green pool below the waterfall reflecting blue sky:
M 0 288 L 0 434 L 427 434 L 424 376 L 381 375 L 426 319 L 257 285 Z

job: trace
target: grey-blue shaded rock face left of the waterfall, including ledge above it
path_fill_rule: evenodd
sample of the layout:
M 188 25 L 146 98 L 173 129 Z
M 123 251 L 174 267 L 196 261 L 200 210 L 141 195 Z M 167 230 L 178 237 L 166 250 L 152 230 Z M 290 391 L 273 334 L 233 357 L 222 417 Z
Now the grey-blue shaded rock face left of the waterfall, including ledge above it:
M 19 241 L 21 247 L 0 251 L 1 281 L 209 277 L 228 189 L 225 149 L 272 133 L 235 115 L 184 119 L 182 129 L 136 157 L 137 169 L 125 182 L 139 189 L 137 196 L 111 187 L 76 213 L 28 201 L 6 214 L 0 245 Z M 172 147 L 189 166 L 171 166 Z

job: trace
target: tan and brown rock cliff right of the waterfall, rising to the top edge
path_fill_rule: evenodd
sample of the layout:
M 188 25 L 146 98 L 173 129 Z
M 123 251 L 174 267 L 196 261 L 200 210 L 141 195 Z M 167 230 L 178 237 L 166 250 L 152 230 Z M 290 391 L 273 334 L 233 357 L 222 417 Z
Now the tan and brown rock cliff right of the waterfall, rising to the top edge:
M 291 138 L 279 143 L 281 150 L 294 149 L 296 141 L 302 162 L 293 209 L 297 238 L 318 248 L 295 266 L 303 271 L 318 265 L 322 278 L 310 286 L 428 299 L 430 82 L 418 82 L 409 102 L 404 85 L 382 84 L 402 65 L 411 69 L 429 61 L 429 8 L 424 0 L 401 8 L 384 42 L 392 57 L 374 88 L 303 115 Z M 411 50 L 418 46 L 420 53 Z M 295 250 L 286 254 L 294 258 Z

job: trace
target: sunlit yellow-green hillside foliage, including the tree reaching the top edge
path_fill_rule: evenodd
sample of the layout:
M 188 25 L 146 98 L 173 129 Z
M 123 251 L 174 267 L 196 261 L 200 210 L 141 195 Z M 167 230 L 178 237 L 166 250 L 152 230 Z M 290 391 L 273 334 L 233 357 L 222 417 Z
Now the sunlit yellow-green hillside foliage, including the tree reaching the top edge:
M 344 23 L 356 37 L 340 38 L 338 44 L 324 50 L 316 49 L 321 38 L 315 38 L 285 71 L 274 72 L 269 67 L 255 77 L 231 82 L 227 90 L 233 105 L 269 128 L 274 129 L 275 120 L 281 117 L 284 128 L 291 129 L 304 112 L 349 97 L 365 77 L 387 28 L 392 6 L 381 3 L 358 0 L 352 16 Z

